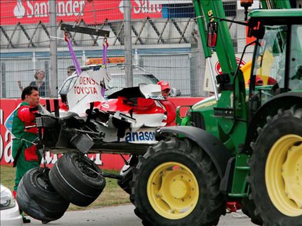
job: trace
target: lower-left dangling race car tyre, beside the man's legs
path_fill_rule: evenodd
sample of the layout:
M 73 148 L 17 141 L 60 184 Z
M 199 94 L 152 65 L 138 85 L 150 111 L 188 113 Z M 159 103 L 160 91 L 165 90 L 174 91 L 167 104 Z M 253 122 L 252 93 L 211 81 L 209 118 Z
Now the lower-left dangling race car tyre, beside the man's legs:
M 69 202 L 54 190 L 48 180 L 48 171 L 43 170 L 34 168 L 23 176 L 16 199 L 20 209 L 31 217 L 52 221 L 63 216 Z

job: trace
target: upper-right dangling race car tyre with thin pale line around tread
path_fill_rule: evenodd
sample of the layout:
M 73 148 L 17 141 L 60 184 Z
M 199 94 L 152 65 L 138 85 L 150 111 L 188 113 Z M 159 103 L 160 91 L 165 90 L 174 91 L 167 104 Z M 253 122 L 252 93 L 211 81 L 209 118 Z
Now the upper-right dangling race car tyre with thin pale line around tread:
M 58 159 L 49 179 L 59 194 L 78 206 L 90 205 L 106 185 L 101 169 L 80 153 L 66 153 Z

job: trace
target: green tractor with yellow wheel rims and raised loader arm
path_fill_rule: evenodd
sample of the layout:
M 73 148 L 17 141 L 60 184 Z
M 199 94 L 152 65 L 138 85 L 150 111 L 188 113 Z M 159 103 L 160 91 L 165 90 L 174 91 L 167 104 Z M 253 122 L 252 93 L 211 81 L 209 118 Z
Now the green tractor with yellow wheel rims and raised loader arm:
M 227 201 L 241 201 L 256 224 L 301 226 L 302 10 L 255 10 L 238 22 L 255 38 L 246 88 L 222 2 L 194 7 L 205 57 L 214 49 L 223 71 L 219 92 L 178 114 L 178 126 L 161 128 L 169 138 L 138 158 L 134 212 L 143 225 L 211 226 Z

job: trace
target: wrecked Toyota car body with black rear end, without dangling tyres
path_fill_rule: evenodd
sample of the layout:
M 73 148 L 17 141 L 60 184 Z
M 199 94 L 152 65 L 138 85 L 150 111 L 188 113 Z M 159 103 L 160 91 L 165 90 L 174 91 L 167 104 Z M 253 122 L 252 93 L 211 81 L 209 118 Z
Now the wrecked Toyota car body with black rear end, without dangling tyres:
M 110 76 L 103 67 L 84 70 L 61 93 L 56 116 L 42 113 L 41 143 L 52 152 L 135 153 L 156 143 L 156 129 L 175 119 L 175 107 L 161 95 L 161 86 L 139 84 L 105 99 Z M 101 84 L 101 85 L 100 85 Z M 40 118 L 40 119 L 39 119 Z M 48 123 L 48 121 L 51 121 Z M 132 154 L 132 153 L 130 153 Z

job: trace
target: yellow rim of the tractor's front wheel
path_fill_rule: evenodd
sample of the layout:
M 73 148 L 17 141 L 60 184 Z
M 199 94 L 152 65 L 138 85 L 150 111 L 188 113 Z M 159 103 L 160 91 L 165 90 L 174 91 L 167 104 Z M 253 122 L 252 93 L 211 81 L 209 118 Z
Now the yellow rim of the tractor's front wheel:
M 183 164 L 167 162 L 150 175 L 147 195 L 153 209 L 168 219 L 181 219 L 195 208 L 199 188 L 192 171 Z

